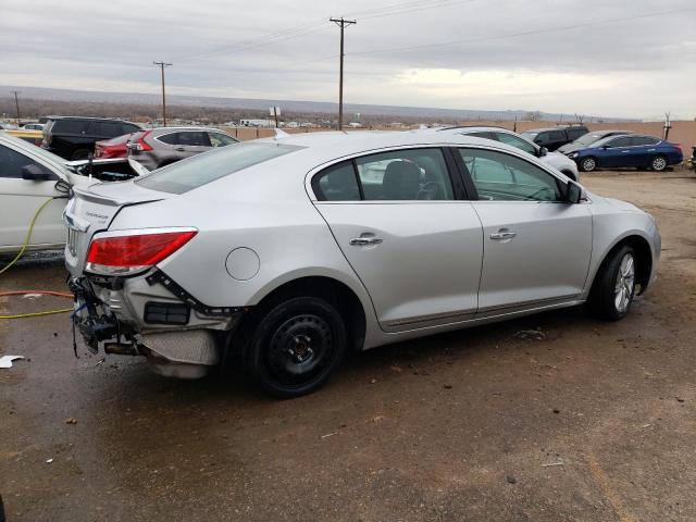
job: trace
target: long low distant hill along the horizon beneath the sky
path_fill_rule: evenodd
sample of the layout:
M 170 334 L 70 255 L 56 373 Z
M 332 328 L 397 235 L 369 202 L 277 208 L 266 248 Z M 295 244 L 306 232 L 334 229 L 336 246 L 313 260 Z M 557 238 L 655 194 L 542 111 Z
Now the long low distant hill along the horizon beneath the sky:
M 11 90 L 21 90 L 22 98 L 32 98 L 36 100 L 54 100 L 69 102 L 87 102 L 87 103 L 123 103 L 123 104 L 152 104 L 158 105 L 161 102 L 160 95 L 144 92 L 107 92 L 96 90 L 71 90 L 71 89 L 50 89 L 44 87 L 24 87 L 24 86 L 0 86 L 0 92 L 10 92 Z M 298 100 L 266 100 L 252 98 L 220 98 L 208 96 L 181 96 L 167 95 L 167 105 L 187 105 L 187 107 L 206 107 L 215 109 L 239 109 L 250 111 L 268 111 L 269 107 L 278 105 L 285 112 L 289 113 L 322 113 L 337 114 L 338 103 L 325 101 L 298 101 Z M 398 120 L 400 116 L 409 119 L 438 119 L 447 121 L 512 121 L 529 120 L 534 115 L 535 120 L 558 121 L 561 114 L 548 113 L 531 110 L 504 110 L 504 111 L 480 111 L 469 109 L 442 109 L 425 107 L 401 107 L 401 105 L 373 105 L 364 103 L 344 103 L 344 114 L 350 119 L 352 114 L 361 115 L 382 115 L 394 116 Z M 626 122 L 631 120 L 605 116 L 585 116 L 585 121 L 602 120 L 605 122 Z M 563 121 L 574 121 L 571 114 L 564 114 Z

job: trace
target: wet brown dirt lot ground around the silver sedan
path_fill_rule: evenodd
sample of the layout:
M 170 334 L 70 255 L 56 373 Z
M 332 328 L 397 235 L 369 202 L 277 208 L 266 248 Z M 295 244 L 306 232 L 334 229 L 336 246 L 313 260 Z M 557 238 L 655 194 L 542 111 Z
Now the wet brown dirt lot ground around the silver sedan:
M 584 181 L 660 225 L 659 279 L 626 320 L 566 310 L 385 347 L 291 401 L 75 359 L 65 314 L 0 320 L 0 355 L 28 358 L 0 370 L 9 522 L 696 520 L 696 177 Z M 0 284 L 63 281 L 49 256 Z

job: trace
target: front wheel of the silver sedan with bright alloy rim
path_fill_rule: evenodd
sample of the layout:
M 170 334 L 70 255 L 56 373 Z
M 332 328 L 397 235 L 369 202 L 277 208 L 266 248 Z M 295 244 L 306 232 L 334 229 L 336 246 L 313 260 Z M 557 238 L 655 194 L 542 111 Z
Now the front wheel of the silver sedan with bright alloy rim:
M 610 253 L 597 273 L 589 308 L 599 318 L 619 321 L 631 310 L 635 297 L 635 250 L 624 245 Z

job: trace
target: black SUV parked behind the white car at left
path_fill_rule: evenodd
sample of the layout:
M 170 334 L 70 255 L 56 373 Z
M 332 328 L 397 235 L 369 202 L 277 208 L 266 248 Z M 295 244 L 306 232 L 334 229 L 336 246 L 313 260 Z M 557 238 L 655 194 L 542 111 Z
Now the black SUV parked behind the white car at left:
M 66 160 L 85 160 L 95 152 L 95 142 L 141 128 L 123 120 L 78 116 L 49 116 L 41 147 Z

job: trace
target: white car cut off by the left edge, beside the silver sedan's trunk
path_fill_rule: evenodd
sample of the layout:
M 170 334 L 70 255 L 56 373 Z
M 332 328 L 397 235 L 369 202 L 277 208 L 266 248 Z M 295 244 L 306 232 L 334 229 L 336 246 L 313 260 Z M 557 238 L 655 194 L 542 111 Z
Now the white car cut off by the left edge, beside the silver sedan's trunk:
M 36 217 L 27 250 L 63 248 L 67 231 L 62 213 L 71 187 L 87 187 L 97 182 L 82 174 L 88 165 L 87 160 L 66 162 L 0 132 L 0 252 L 22 249 L 29 225 L 44 203 L 47 204 Z M 125 160 L 96 160 L 91 167 L 96 175 L 112 170 L 132 177 Z

